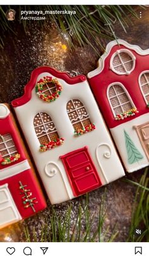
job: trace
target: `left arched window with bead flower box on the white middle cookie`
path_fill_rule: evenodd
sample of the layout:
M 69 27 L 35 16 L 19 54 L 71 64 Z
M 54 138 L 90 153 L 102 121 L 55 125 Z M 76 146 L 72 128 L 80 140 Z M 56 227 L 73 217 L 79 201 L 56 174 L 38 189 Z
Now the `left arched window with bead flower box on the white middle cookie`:
M 43 152 L 47 149 L 53 149 L 63 143 L 64 139 L 59 138 L 56 126 L 49 114 L 38 113 L 33 120 L 33 125 L 40 142 L 40 151 Z

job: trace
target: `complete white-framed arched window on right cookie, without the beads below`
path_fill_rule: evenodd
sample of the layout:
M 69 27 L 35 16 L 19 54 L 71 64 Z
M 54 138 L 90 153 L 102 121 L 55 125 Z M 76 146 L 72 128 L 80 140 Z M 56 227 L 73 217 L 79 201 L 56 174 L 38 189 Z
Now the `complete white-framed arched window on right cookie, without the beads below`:
M 117 114 L 135 108 L 128 91 L 122 83 L 111 83 L 107 88 L 107 98 L 114 117 L 116 117 Z

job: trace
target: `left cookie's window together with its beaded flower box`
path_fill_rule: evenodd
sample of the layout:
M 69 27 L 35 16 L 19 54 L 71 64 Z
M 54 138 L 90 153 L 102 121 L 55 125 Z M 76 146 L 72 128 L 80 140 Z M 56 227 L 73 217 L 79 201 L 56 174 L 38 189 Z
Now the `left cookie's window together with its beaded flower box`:
M 20 159 L 20 154 L 16 150 L 11 135 L 0 135 L 0 163 L 2 165 L 11 164 L 18 161 L 18 159 Z

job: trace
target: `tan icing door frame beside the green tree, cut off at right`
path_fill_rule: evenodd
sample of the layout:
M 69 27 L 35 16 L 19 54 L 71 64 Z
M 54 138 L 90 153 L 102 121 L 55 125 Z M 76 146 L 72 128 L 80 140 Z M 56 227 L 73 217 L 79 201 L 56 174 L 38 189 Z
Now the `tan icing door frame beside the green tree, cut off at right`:
M 146 154 L 146 157 L 149 161 L 149 134 L 146 136 L 145 138 L 145 134 L 143 134 L 143 128 L 147 127 L 149 128 L 149 121 L 146 123 L 143 123 L 141 125 L 138 126 L 134 126 L 134 128 L 136 129 L 136 133 L 138 134 L 138 137 L 140 139 L 141 145 L 143 147 L 143 150 Z M 141 134 L 142 133 L 142 134 Z M 147 147 L 147 143 L 145 144 L 145 141 L 148 140 L 148 150 L 146 149 Z

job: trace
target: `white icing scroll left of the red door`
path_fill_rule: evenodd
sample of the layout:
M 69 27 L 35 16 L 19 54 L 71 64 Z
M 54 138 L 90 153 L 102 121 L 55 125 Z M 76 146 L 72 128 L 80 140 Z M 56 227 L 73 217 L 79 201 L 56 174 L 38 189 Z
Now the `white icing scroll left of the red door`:
M 50 178 L 54 177 L 56 174 L 60 174 L 59 178 L 61 178 L 61 181 L 63 181 L 64 187 L 66 189 L 66 193 L 68 194 L 69 199 L 71 199 L 71 196 L 69 195 L 68 188 L 67 188 L 66 183 L 63 178 L 63 174 L 61 173 L 61 169 L 59 168 L 59 166 L 57 166 L 57 164 L 55 162 L 48 162 L 46 164 L 45 173 Z M 57 182 L 58 182 L 58 177 L 57 177 Z

